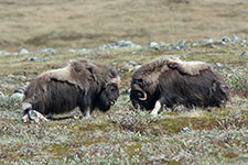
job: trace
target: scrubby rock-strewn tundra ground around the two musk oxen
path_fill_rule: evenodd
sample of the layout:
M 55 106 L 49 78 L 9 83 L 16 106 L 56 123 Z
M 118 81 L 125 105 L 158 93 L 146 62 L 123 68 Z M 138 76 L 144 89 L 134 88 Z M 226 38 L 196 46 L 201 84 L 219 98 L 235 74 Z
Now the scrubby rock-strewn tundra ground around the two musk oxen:
M 66 119 L 22 123 L 20 100 L 0 100 L 1 164 L 247 164 L 248 86 L 247 57 L 240 45 L 219 50 L 208 46 L 186 51 L 133 51 L 119 48 L 97 53 L 37 53 L 47 62 L 30 62 L 31 55 L 1 57 L 0 89 L 11 95 L 24 88 L 37 74 L 65 66 L 72 58 L 87 58 L 116 66 L 121 76 L 121 96 L 107 113 L 94 111 L 91 119 Z M 160 55 L 177 55 L 185 61 L 205 61 L 215 66 L 231 87 L 226 108 L 181 108 L 153 118 L 134 111 L 126 94 L 131 72 L 120 70 L 130 59 L 143 64 Z M 14 58 L 13 58 L 14 57 Z M 216 63 L 222 64 L 217 66 Z M 80 116 L 78 110 L 56 118 Z

